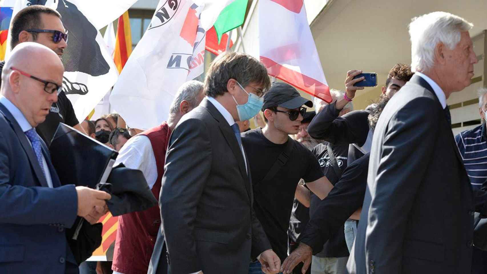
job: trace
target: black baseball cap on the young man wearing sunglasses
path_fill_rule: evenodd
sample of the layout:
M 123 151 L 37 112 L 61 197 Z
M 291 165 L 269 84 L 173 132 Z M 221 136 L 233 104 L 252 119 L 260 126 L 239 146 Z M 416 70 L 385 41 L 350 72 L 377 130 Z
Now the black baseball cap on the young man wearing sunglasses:
M 302 105 L 312 108 L 313 102 L 301 97 L 300 93 L 291 85 L 281 82 L 273 83 L 269 91 L 264 94 L 262 111 L 277 106 L 286 109 L 297 109 Z

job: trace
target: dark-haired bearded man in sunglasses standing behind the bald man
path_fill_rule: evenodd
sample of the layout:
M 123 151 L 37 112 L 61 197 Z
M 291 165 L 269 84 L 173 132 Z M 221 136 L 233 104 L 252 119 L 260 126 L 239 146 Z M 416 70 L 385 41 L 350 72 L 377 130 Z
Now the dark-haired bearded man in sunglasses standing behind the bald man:
M 61 15 L 46 6 L 32 5 L 19 11 L 11 22 L 10 48 L 13 49 L 22 42 L 37 42 L 53 50 L 59 58 L 67 47 L 68 33 L 61 22 Z M 0 72 L 5 62 L 0 62 Z M 37 80 L 33 75 L 22 75 Z M 37 80 L 38 81 L 38 80 Z M 42 82 L 42 81 L 41 81 Z M 45 90 L 62 88 L 51 87 L 53 83 L 45 83 Z M 59 90 L 60 91 L 60 90 Z M 79 125 L 75 110 L 64 91 L 57 92 L 57 102 L 53 103 L 44 123 L 37 126 L 37 133 L 49 146 L 59 123 L 65 123 L 86 134 Z

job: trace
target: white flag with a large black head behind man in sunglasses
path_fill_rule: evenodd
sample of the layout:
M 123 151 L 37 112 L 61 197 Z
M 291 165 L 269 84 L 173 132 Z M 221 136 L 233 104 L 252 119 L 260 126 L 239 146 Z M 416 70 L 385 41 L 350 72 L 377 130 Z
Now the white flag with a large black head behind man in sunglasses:
M 63 90 L 82 121 L 112 88 L 117 70 L 99 29 L 123 14 L 136 0 L 18 0 L 14 15 L 30 5 L 57 10 L 68 31 Z

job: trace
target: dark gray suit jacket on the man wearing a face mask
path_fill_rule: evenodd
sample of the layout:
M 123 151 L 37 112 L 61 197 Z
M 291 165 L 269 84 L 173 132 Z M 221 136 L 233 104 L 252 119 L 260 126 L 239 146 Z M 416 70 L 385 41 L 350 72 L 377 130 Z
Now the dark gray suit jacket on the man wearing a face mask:
M 204 99 L 172 132 L 159 205 L 170 274 L 247 274 L 270 243 L 232 128 Z

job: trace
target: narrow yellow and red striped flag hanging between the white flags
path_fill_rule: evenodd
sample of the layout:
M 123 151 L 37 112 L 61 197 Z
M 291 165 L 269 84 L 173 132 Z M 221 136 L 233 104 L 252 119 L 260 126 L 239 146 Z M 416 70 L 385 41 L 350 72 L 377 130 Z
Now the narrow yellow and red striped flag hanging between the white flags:
M 118 73 L 122 72 L 125 63 L 132 53 L 132 35 L 130 31 L 129 11 L 118 18 L 117 35 L 115 37 L 115 51 L 113 60 Z

